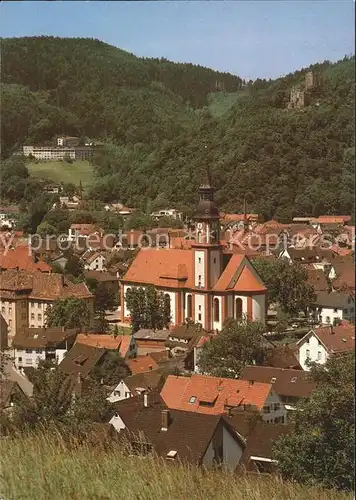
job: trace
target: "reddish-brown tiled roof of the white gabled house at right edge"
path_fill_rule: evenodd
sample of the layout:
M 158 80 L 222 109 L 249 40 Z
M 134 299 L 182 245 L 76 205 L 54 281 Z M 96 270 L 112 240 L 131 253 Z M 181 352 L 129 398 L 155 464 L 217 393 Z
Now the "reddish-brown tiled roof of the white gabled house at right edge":
M 338 326 L 316 328 L 305 335 L 297 344 L 302 344 L 304 339 L 313 333 L 330 354 L 341 354 L 355 349 L 355 326 L 348 321 L 342 321 Z

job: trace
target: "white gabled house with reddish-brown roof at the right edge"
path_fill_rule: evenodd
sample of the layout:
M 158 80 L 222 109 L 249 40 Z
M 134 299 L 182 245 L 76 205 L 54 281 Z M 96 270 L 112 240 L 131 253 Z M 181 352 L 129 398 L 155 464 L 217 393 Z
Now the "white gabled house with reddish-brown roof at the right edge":
M 330 356 L 343 355 L 355 349 L 355 326 L 342 321 L 310 330 L 297 343 L 299 363 L 303 370 L 310 370 L 309 362 L 325 364 Z

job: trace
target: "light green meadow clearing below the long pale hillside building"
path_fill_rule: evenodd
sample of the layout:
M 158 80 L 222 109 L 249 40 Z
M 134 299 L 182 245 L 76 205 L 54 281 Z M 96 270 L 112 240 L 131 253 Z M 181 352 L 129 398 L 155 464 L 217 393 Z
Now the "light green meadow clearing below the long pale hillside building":
M 88 189 L 94 181 L 93 167 L 86 160 L 76 160 L 73 163 L 62 161 L 28 163 L 27 168 L 31 176 L 39 179 L 50 179 L 52 182 L 75 185 L 82 181 L 84 189 Z

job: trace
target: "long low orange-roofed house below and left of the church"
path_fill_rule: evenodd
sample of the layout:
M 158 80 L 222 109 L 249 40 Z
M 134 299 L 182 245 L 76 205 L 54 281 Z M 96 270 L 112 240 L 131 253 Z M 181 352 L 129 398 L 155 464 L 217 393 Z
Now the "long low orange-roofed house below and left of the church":
M 79 333 L 76 344 L 97 349 L 117 351 L 123 359 L 136 356 L 136 344 L 132 335 L 109 335 L 106 333 Z

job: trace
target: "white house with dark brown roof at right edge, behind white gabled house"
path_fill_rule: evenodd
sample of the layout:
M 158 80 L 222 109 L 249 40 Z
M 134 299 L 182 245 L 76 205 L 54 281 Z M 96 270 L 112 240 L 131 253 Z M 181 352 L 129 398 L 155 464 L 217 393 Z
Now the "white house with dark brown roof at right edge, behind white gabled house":
M 318 292 L 311 306 L 311 315 L 323 325 L 355 317 L 355 297 L 345 292 Z

